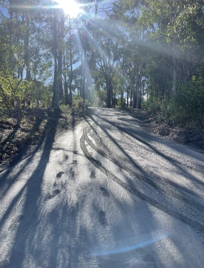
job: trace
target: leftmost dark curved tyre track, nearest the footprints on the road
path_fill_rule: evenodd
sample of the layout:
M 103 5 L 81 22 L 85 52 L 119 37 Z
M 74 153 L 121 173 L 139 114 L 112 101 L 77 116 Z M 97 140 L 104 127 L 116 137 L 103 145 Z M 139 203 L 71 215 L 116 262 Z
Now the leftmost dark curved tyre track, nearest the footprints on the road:
M 97 161 L 96 159 L 94 159 L 90 155 L 90 153 L 88 152 L 88 150 L 86 148 L 86 144 L 85 144 L 86 131 L 87 131 L 87 126 L 83 129 L 83 135 L 81 136 L 81 139 L 80 139 L 80 147 L 81 147 L 81 150 L 83 151 L 84 155 L 86 156 L 86 158 L 97 169 L 99 169 L 101 172 L 103 172 L 108 178 L 112 179 L 115 183 L 117 183 L 118 185 L 120 185 L 121 187 L 126 189 L 128 192 L 130 192 L 133 195 L 139 197 L 140 199 L 144 200 L 145 202 L 149 203 L 150 205 L 154 206 L 155 208 L 160 209 L 161 211 L 167 213 L 168 215 L 170 215 L 170 216 L 172 216 L 172 217 L 174 217 L 176 219 L 179 219 L 180 221 L 182 221 L 183 223 L 187 224 L 192 229 L 197 231 L 199 234 L 203 235 L 203 233 L 204 233 L 204 225 L 200 224 L 197 221 L 194 221 L 193 219 L 187 218 L 184 215 L 178 213 L 177 211 L 172 210 L 170 207 L 166 207 L 163 204 L 153 200 L 149 196 L 144 195 L 143 193 L 141 193 L 137 189 L 131 187 L 129 184 L 127 184 L 124 181 L 120 180 L 118 177 L 116 177 L 111 172 L 109 172 L 106 168 L 104 168 L 102 166 L 102 164 L 100 163 L 100 161 Z

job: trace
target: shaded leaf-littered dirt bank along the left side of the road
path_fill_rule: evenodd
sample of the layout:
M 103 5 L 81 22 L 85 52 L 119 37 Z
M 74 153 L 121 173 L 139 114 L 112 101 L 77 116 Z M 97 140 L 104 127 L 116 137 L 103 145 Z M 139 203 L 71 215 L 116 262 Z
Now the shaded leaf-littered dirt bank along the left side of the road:
M 57 139 L 82 120 L 84 116 L 79 111 L 64 114 L 51 109 L 28 108 L 21 126 L 17 127 L 12 111 L 8 112 L 6 118 L 0 111 L 0 172 L 17 160 L 31 155 L 43 144 L 48 134 Z

